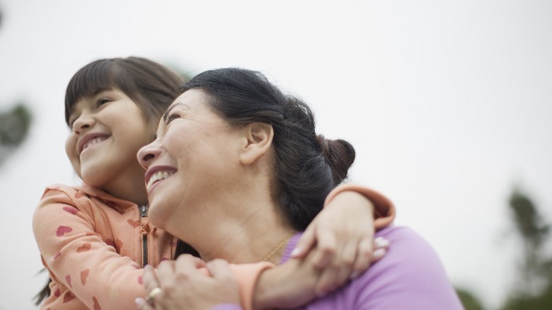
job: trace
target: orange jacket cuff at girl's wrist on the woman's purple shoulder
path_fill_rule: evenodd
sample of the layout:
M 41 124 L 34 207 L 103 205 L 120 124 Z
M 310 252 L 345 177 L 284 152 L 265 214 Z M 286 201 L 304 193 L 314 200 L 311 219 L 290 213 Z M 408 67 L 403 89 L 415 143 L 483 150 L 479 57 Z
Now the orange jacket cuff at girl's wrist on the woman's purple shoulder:
M 381 193 L 361 185 L 348 183 L 338 185 L 328 194 L 328 197 L 326 197 L 326 201 L 324 202 L 324 206 L 328 205 L 328 203 L 333 200 L 336 195 L 341 192 L 345 192 L 346 190 L 352 190 L 360 193 L 374 204 L 374 228 L 376 231 L 391 225 L 391 223 L 395 220 L 396 210 L 393 202 L 391 202 L 391 200 L 384 195 L 381 195 Z

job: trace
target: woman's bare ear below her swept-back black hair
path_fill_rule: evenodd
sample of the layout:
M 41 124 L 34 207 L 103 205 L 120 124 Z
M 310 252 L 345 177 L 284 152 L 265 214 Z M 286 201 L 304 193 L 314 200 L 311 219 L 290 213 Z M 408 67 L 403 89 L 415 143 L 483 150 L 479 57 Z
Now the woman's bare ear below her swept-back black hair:
M 244 165 L 249 165 L 270 149 L 274 129 L 272 129 L 272 125 L 265 122 L 250 122 L 244 130 L 246 142 L 241 149 L 240 161 Z

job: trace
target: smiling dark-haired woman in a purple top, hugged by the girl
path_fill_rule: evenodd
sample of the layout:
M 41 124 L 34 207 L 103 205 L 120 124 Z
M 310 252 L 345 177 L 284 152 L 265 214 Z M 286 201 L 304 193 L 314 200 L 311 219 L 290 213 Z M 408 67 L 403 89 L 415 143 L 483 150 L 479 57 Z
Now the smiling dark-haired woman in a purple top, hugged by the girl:
M 288 260 L 326 195 L 346 178 L 355 150 L 317 136 L 309 107 L 259 72 L 228 68 L 185 84 L 155 142 L 138 157 L 147 170 L 151 222 L 209 262 L 186 256 L 161 264 L 157 279 L 146 272 L 156 306 L 231 309 L 239 303 L 237 288 L 217 258 Z M 393 226 L 378 235 L 393 245 L 386 256 L 308 309 L 461 309 L 439 259 L 420 236 Z

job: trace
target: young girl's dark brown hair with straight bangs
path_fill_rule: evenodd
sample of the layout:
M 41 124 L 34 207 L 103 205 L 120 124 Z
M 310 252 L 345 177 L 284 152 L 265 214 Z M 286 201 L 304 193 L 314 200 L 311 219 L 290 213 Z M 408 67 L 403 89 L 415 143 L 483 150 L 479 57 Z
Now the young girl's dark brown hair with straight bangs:
M 183 76 L 141 57 L 98 59 L 76 71 L 65 93 L 65 122 L 86 96 L 117 88 L 139 105 L 154 123 L 178 97 Z

